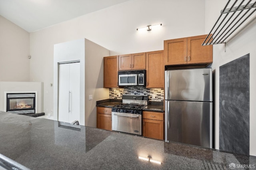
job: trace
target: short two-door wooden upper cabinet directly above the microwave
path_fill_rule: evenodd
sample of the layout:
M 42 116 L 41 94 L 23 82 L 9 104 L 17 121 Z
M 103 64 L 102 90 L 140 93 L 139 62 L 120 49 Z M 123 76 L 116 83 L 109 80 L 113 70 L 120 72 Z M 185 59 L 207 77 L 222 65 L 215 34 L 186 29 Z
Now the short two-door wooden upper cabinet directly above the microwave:
M 119 70 L 146 69 L 146 53 L 119 55 Z

